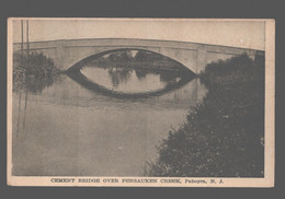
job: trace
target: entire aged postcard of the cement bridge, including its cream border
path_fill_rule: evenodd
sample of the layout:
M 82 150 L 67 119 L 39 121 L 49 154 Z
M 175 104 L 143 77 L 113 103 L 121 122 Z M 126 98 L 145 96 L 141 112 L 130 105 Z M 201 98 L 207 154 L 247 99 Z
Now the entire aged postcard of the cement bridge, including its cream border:
M 8 185 L 274 186 L 274 20 L 8 20 Z

